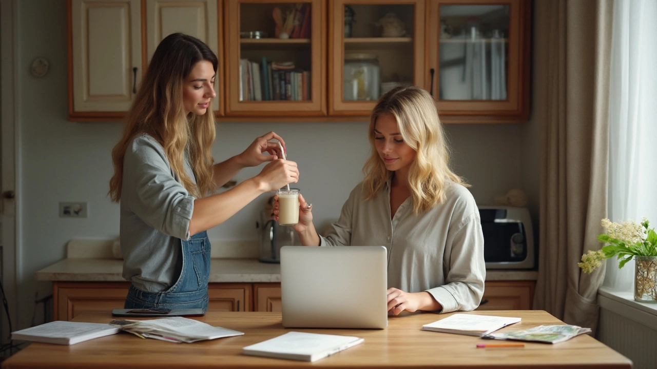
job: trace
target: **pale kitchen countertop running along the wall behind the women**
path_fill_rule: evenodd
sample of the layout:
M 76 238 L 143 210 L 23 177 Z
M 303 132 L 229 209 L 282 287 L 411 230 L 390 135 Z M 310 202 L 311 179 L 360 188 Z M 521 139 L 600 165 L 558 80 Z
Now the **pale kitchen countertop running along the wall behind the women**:
M 68 258 L 35 273 L 39 281 L 125 282 L 121 276 L 123 260 Z M 486 280 L 536 280 L 537 271 L 489 270 Z M 212 259 L 210 282 L 281 282 L 281 265 L 260 263 L 258 259 Z

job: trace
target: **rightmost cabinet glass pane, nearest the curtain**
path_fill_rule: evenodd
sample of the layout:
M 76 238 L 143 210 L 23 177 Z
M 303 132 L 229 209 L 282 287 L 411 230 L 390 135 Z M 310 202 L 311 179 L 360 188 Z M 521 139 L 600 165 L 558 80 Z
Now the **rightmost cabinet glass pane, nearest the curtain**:
M 509 5 L 440 6 L 440 100 L 507 100 Z

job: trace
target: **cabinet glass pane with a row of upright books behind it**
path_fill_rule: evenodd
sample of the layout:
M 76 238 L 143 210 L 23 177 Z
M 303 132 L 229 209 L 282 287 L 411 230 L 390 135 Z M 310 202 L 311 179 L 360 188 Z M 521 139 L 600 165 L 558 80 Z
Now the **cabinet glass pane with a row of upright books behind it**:
M 311 4 L 240 5 L 240 101 L 311 100 Z

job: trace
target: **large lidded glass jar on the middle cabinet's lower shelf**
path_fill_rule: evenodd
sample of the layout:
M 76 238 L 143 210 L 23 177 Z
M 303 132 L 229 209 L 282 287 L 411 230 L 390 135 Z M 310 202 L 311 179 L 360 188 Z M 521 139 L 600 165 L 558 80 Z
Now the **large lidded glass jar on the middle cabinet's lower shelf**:
M 366 53 L 344 55 L 344 100 L 378 100 L 378 56 Z

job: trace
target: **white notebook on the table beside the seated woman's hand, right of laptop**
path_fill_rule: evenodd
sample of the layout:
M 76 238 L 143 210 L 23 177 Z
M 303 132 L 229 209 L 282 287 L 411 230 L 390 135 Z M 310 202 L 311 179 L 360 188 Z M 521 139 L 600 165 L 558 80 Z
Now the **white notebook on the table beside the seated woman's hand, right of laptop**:
M 454 314 L 436 322 L 424 324 L 423 330 L 434 332 L 467 334 L 468 336 L 484 336 L 499 328 L 520 322 L 520 318 L 509 316 Z

